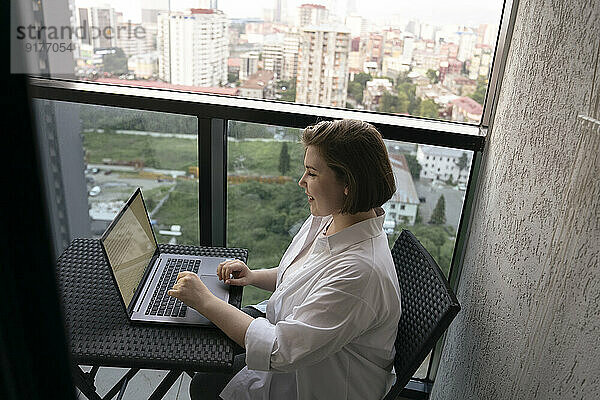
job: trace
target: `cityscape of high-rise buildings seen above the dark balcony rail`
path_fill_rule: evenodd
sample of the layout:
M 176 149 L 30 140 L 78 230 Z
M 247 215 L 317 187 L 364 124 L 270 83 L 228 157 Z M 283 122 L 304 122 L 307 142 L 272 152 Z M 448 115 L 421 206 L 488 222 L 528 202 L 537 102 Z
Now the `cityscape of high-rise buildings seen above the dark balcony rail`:
M 233 18 L 217 0 L 144 1 L 138 21 L 71 0 L 71 23 L 90 30 L 74 39 L 76 77 L 479 123 L 497 24 L 383 23 L 353 0 L 270 3 L 262 18 Z

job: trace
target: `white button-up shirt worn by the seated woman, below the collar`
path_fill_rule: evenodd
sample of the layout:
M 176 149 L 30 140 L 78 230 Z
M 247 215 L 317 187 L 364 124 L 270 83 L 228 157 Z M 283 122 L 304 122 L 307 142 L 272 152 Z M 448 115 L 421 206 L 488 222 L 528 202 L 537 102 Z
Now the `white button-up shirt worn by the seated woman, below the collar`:
M 381 399 L 393 385 L 400 288 L 385 213 L 331 236 L 310 216 L 279 264 L 266 318 L 246 332 L 246 364 L 221 397 Z M 316 240 L 293 279 L 285 269 Z

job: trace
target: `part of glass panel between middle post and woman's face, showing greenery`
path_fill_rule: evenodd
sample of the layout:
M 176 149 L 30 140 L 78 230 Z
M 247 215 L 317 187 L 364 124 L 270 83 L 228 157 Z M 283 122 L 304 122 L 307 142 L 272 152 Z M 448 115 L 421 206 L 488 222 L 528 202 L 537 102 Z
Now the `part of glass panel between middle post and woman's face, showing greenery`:
M 272 268 L 310 215 L 298 186 L 304 172 L 300 129 L 229 121 L 227 246 L 249 249 L 248 266 Z M 286 155 L 287 154 L 287 155 Z M 246 286 L 242 304 L 270 292 Z

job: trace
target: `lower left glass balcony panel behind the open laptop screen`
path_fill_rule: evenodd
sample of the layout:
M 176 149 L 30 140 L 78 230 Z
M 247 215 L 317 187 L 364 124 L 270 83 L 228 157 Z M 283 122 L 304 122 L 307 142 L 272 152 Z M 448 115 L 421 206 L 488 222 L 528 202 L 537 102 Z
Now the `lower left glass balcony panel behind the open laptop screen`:
M 42 159 L 56 167 L 46 179 L 67 200 L 66 244 L 101 236 L 137 187 L 159 243 L 199 243 L 196 117 L 37 99 L 34 109 Z

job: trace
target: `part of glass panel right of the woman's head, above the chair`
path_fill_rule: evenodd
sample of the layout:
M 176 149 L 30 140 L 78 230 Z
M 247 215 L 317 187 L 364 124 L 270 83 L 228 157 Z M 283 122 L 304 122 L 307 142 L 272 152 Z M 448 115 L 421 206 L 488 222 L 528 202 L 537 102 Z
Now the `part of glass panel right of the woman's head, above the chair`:
M 465 201 L 473 152 L 385 140 L 396 193 L 384 204 L 390 246 L 411 231 L 446 277 Z

